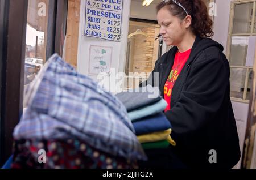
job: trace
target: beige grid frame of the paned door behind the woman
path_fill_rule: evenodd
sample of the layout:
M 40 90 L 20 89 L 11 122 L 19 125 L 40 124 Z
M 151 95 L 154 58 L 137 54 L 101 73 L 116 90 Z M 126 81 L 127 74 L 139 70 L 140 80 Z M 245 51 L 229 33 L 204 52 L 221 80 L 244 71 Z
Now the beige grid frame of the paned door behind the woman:
M 241 5 L 245 3 L 253 3 L 253 17 L 252 17 L 252 22 L 255 22 L 255 15 L 256 15 L 256 0 L 235 0 L 231 1 L 230 4 L 230 16 L 229 16 L 229 31 L 228 31 L 228 41 L 227 41 L 227 47 L 226 47 L 226 58 L 228 61 L 230 61 L 230 51 L 231 51 L 231 41 L 233 36 L 256 36 L 256 32 L 253 32 L 254 26 L 251 25 L 251 31 L 250 33 L 232 33 L 233 32 L 233 24 L 234 24 L 234 8 L 236 5 Z M 231 97 L 232 101 L 237 101 L 237 102 L 245 102 L 249 103 L 250 100 L 246 100 L 247 96 L 247 89 L 249 85 L 249 72 L 250 70 L 253 70 L 252 66 L 233 66 L 230 65 L 230 70 L 232 68 L 245 68 L 246 69 L 246 77 L 245 77 L 245 86 L 243 90 L 243 98 L 236 98 L 236 97 Z

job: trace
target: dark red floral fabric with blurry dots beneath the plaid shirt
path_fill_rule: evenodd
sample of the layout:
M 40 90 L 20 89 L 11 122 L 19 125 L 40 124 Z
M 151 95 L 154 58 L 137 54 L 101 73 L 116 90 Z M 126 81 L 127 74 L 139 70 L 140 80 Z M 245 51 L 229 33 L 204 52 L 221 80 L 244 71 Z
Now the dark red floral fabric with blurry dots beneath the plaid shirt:
M 45 157 L 38 152 L 45 152 Z M 40 163 L 39 160 L 43 163 Z M 79 140 L 17 140 L 13 169 L 135 169 L 136 161 L 115 157 Z

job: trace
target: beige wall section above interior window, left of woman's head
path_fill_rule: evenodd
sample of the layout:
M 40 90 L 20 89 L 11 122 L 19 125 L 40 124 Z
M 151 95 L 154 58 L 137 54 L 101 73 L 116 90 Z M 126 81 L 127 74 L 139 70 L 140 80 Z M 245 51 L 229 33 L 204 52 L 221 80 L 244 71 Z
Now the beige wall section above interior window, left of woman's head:
M 126 0 L 125 0 L 126 1 Z M 142 6 L 142 2 L 131 1 L 131 18 L 156 20 L 156 4 Z

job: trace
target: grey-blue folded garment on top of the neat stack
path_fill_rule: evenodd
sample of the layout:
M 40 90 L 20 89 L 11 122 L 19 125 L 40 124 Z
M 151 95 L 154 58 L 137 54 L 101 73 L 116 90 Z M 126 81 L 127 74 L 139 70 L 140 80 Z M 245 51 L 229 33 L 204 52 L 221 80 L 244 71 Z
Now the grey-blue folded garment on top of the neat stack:
M 127 112 L 141 108 L 146 105 L 154 104 L 154 102 L 161 100 L 159 89 L 147 85 L 146 87 L 130 89 L 126 92 L 118 93 L 117 98 L 125 105 Z

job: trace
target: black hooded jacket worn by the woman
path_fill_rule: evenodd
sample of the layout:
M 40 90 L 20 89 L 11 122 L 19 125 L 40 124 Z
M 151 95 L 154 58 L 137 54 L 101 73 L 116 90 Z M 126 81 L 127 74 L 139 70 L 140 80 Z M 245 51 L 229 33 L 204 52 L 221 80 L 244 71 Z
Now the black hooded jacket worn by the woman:
M 171 151 L 189 168 L 232 168 L 240 159 L 229 95 L 229 62 L 222 51 L 223 46 L 218 42 L 196 37 L 189 59 L 172 89 L 171 109 L 165 113 L 173 127 L 172 139 L 177 144 Z M 162 97 L 176 52 L 174 46 L 160 57 L 147 80 L 159 87 Z M 154 72 L 159 73 L 158 78 Z M 168 158 L 161 158 L 166 156 L 163 152 L 155 151 L 154 156 L 155 160 L 162 161 L 159 164 L 168 168 L 168 162 L 163 162 Z

